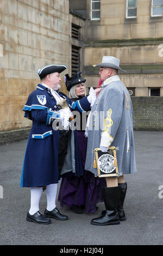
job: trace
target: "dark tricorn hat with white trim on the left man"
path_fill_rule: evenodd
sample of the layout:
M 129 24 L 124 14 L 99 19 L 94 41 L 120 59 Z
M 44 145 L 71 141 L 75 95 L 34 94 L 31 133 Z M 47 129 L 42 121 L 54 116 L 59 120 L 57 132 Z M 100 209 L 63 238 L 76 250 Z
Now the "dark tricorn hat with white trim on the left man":
M 39 69 L 37 71 L 37 74 L 39 74 L 40 79 L 46 77 L 49 74 L 58 72 L 59 74 L 64 71 L 65 69 L 67 69 L 66 65 L 48 65 L 48 66 L 44 66 L 43 68 Z

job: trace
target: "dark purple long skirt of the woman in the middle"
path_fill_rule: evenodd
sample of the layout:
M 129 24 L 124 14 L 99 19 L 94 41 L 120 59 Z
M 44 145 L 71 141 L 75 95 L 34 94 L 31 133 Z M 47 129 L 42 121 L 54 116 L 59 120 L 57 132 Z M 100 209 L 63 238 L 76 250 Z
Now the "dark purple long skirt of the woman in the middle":
M 77 132 L 83 166 L 85 166 L 87 138 L 84 132 Z M 103 202 L 102 186 L 106 186 L 105 178 L 98 178 L 88 170 L 83 176 L 62 178 L 58 195 L 60 206 L 73 207 L 83 205 L 86 212 L 95 212 L 96 204 Z

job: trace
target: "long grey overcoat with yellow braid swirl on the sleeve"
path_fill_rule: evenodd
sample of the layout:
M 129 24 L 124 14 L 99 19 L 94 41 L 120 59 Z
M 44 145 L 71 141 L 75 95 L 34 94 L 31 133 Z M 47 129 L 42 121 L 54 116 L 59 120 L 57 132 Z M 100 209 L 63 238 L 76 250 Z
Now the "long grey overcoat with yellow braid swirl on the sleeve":
M 136 172 L 132 113 L 128 90 L 119 76 L 105 80 L 91 110 L 86 170 L 97 174 L 97 168 L 93 168 L 93 150 L 111 145 L 118 148 L 118 172 L 121 175 Z

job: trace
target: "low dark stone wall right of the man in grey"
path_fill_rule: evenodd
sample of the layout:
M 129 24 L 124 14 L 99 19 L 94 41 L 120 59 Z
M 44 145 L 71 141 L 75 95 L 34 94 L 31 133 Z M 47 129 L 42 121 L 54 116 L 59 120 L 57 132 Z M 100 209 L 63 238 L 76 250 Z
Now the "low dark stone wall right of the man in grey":
M 163 97 L 131 97 L 135 130 L 163 131 Z

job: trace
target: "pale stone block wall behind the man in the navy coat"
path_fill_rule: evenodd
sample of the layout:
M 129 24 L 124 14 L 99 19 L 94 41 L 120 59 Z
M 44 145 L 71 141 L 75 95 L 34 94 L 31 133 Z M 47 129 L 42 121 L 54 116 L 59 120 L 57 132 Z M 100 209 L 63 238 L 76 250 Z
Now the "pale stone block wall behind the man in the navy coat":
M 40 82 L 39 68 L 68 66 L 69 27 L 68 0 L 0 1 L 0 132 L 32 124 L 23 105 Z

